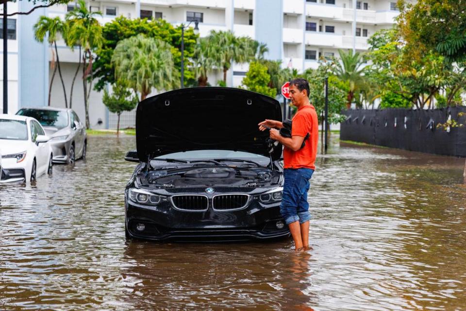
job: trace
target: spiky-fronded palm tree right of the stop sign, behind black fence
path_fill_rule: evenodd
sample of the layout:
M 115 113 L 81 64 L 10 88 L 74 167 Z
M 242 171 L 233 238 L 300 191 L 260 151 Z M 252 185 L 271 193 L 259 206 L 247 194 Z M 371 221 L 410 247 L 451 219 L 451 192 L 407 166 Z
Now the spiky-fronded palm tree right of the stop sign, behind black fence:
M 345 52 L 338 50 L 340 53 L 340 62 L 336 62 L 334 73 L 342 81 L 348 82 L 350 90 L 348 91 L 347 108 L 351 108 L 351 103 L 354 99 L 354 94 L 365 86 L 364 71 L 365 67 L 361 68 L 364 64 L 363 54 L 350 50 Z

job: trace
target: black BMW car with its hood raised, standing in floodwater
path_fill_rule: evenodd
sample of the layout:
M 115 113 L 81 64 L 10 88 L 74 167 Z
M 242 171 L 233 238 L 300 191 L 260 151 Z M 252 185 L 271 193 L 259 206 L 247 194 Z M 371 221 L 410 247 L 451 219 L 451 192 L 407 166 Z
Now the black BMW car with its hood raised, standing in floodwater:
M 267 96 L 226 87 L 185 88 L 140 102 L 138 162 L 125 190 L 128 238 L 245 241 L 289 236 L 280 215 L 282 146 L 258 130 L 282 120 Z

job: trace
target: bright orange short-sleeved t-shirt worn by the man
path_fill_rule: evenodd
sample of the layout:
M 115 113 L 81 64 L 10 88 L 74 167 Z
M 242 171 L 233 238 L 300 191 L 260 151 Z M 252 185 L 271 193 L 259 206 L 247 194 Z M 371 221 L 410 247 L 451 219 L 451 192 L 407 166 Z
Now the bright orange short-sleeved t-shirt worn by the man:
M 293 151 L 288 147 L 283 149 L 283 164 L 285 169 L 307 168 L 315 170 L 315 162 L 317 155 L 317 142 L 319 138 L 319 128 L 316 109 L 313 105 L 300 107 L 294 115 L 293 125 L 291 128 L 291 136 L 306 137 L 309 133 L 309 138 L 306 139 L 304 148 Z

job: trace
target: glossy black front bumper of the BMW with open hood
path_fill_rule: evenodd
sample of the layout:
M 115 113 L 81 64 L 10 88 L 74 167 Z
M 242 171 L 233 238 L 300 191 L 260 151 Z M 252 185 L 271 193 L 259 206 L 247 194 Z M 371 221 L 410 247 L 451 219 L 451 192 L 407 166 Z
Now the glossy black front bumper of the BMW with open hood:
M 131 238 L 177 242 L 238 242 L 289 237 L 279 205 L 260 207 L 252 202 L 245 209 L 204 212 L 173 207 L 141 207 L 125 200 L 126 230 Z M 278 229 L 277 222 L 283 222 Z M 143 224 L 144 230 L 137 225 Z

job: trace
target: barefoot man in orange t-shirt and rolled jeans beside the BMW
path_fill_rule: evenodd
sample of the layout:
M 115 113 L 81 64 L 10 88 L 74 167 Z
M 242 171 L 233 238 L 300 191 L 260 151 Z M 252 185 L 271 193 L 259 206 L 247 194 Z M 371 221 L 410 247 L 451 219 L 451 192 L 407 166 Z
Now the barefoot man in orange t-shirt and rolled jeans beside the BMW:
M 301 78 L 290 81 L 291 103 L 298 107 L 293 117 L 291 138 L 280 135 L 278 129 L 283 127 L 281 121 L 266 120 L 259 123 L 259 130 L 264 131 L 266 125 L 271 127 L 270 138 L 278 140 L 284 146 L 283 199 L 280 212 L 289 226 L 296 250 L 309 248 L 309 203 L 307 191 L 309 179 L 315 170 L 314 162 L 317 154 L 318 120 L 314 106 L 309 103 L 309 83 Z M 301 148 L 304 138 L 309 139 Z

